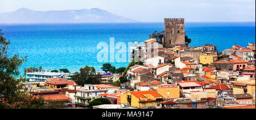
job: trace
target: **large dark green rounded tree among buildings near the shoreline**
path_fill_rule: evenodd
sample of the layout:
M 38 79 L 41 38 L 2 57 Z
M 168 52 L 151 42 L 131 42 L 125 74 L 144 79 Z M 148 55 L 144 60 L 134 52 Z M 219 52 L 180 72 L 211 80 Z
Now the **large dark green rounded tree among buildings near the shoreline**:
M 96 75 L 94 67 L 86 66 L 85 68 L 80 68 L 80 73 L 75 72 L 72 76 L 72 80 L 78 85 L 84 84 L 100 84 L 100 73 Z

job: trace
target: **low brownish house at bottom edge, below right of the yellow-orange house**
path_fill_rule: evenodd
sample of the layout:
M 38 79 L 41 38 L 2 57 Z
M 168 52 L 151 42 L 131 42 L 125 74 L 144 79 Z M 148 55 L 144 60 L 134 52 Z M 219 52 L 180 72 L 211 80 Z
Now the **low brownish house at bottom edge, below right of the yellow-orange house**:
M 199 101 L 185 101 L 179 103 L 180 109 L 206 109 L 207 101 L 199 100 Z

